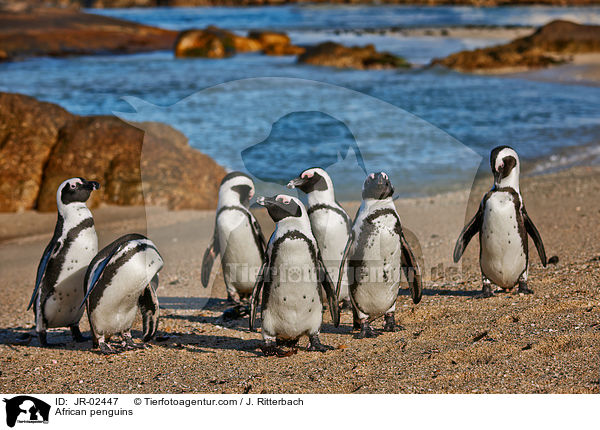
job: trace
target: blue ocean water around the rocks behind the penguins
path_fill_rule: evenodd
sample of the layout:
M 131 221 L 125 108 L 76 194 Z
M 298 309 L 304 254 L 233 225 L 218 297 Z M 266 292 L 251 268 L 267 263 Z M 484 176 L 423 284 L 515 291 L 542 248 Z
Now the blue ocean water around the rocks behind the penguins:
M 172 29 L 209 24 L 235 31 L 278 29 L 298 44 L 332 39 L 374 43 L 419 64 L 504 41 L 336 30 L 529 26 L 555 18 L 600 21 L 600 7 L 94 12 Z M 489 151 L 496 145 L 513 146 L 523 164 L 539 173 L 589 161 L 582 151 L 595 154 L 600 140 L 600 88 L 438 68 L 336 70 L 257 53 L 181 60 L 171 52 L 153 52 L 0 64 L 0 90 L 29 94 L 82 115 L 116 113 L 126 120 L 166 122 L 220 164 L 251 173 L 259 192 L 281 189 L 304 168 L 324 166 L 341 200 L 359 199 L 362 181 L 371 171 L 386 171 L 399 195 L 422 195 L 468 185 L 480 166 L 487 168 Z

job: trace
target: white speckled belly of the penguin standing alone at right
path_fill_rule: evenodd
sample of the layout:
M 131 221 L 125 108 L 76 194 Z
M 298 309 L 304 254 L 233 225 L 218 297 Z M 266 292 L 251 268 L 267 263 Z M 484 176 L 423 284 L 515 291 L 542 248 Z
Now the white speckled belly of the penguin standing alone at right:
M 485 202 L 480 232 L 481 270 L 490 281 L 511 288 L 527 269 L 527 253 L 519 232 L 520 199 L 496 191 Z M 526 246 L 526 244 L 525 244 Z

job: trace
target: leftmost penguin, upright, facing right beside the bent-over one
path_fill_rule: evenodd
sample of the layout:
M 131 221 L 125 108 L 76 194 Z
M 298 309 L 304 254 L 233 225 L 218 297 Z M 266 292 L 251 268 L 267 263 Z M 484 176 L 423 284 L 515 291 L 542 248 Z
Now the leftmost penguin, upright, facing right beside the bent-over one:
M 69 327 L 76 342 L 86 340 L 79 330 L 84 296 L 81 286 L 87 266 L 98 252 L 98 237 L 85 202 L 99 188 L 98 182 L 71 178 L 60 184 L 56 192 L 58 218 L 54 235 L 38 265 L 27 307 L 33 305 L 42 346 L 48 346 L 46 330 L 53 327 Z

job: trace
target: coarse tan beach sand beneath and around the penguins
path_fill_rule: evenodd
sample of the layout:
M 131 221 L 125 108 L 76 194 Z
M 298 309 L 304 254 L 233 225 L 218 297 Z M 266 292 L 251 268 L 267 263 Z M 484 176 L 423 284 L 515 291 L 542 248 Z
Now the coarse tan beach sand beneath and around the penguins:
M 36 338 L 20 345 L 21 336 L 32 332 L 33 313 L 25 309 L 55 215 L 0 214 L 0 392 L 598 393 L 600 168 L 522 180 L 547 254 L 559 257 L 544 269 L 531 250 L 531 296 L 476 297 L 476 239 L 465 254 L 463 276 L 449 264 L 465 212 L 474 213 L 489 180 L 470 198 L 465 192 L 398 201 L 405 228 L 417 233 L 427 280 L 420 304 L 412 305 L 406 290 L 398 298 L 396 318 L 405 330 L 359 340 L 349 313 L 338 329 L 326 316 L 322 341 L 337 349 L 310 353 L 303 339 L 298 354 L 288 358 L 263 357 L 260 334 L 248 331 L 247 318 L 222 320 L 220 275 L 212 291 L 201 287 L 214 213 L 158 208 L 149 208 L 147 220 L 166 261 L 159 289 L 162 341 L 105 357 L 91 351 L 91 342 L 73 343 L 67 330 L 56 329 L 49 341 L 65 346 L 40 348 Z M 345 206 L 354 214 L 356 203 Z M 146 228 L 143 208 L 93 213 L 100 246 Z M 264 211 L 257 214 L 270 234 L 272 223 Z M 440 261 L 444 270 L 431 276 Z M 139 321 L 134 328 L 139 336 Z M 82 329 L 88 330 L 85 317 Z

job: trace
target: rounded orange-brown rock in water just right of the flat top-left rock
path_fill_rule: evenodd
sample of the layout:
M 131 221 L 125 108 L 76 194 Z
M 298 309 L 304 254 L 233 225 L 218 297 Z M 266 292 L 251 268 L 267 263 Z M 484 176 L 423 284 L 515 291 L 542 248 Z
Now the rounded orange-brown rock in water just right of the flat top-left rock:
M 239 36 L 231 31 L 214 26 L 204 30 L 186 30 L 177 36 L 175 56 L 226 58 L 237 52 L 260 51 L 262 44 L 257 39 Z

